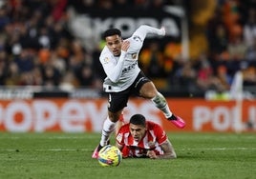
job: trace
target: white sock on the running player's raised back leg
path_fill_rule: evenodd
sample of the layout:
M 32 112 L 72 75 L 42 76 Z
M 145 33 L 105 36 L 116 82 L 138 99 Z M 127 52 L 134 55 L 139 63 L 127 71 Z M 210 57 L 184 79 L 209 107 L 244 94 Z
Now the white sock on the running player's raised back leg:
M 166 99 L 160 92 L 158 92 L 158 94 L 154 98 L 152 98 L 151 101 L 158 109 L 160 109 L 163 112 L 166 118 L 172 116 L 173 113 L 169 109 Z

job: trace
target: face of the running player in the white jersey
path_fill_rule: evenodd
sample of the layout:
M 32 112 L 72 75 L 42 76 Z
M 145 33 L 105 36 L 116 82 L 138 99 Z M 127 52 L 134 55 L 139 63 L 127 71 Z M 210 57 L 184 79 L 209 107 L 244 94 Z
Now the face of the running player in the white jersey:
M 114 56 L 119 56 L 121 53 L 122 39 L 118 35 L 112 35 L 106 37 L 106 45 L 109 50 L 114 54 Z

